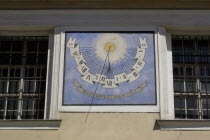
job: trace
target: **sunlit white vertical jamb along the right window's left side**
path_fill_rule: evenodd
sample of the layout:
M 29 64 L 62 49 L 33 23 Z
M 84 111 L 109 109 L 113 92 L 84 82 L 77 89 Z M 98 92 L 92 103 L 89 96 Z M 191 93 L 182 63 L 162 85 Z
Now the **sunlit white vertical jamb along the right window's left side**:
M 159 28 L 160 51 L 160 119 L 174 119 L 174 88 L 171 34 L 165 27 Z

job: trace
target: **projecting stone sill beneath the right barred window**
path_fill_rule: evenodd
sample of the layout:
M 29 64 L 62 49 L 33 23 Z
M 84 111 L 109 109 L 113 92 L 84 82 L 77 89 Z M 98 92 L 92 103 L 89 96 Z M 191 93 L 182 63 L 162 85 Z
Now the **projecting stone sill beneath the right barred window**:
M 210 120 L 156 120 L 160 130 L 210 130 Z

